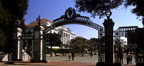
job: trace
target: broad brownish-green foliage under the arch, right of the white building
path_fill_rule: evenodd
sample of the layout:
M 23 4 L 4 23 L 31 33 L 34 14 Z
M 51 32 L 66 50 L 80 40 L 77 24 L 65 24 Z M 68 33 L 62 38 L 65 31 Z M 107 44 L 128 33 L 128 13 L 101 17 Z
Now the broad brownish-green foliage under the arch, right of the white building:
M 98 42 L 99 40 L 96 38 L 87 40 L 83 37 L 76 37 L 75 39 L 71 40 L 69 48 L 70 51 L 81 53 L 83 56 L 88 51 L 96 53 L 96 50 L 98 49 Z

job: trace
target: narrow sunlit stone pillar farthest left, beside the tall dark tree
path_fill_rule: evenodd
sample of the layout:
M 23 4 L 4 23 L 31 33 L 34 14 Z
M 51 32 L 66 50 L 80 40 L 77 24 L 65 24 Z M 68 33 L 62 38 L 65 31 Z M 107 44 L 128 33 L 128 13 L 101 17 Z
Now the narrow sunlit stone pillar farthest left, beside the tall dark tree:
M 22 60 L 22 45 L 20 41 L 22 30 L 21 28 L 14 29 L 13 33 L 13 44 L 14 44 L 14 50 L 12 54 L 12 60 L 13 61 L 21 61 Z

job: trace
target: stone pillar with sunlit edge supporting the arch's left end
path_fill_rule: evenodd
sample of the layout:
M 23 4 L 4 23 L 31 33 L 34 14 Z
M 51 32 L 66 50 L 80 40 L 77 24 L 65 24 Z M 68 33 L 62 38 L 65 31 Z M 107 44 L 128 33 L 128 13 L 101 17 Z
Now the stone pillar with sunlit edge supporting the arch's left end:
M 33 57 L 31 62 L 46 62 L 45 43 L 43 42 L 43 29 L 41 26 L 34 28 Z

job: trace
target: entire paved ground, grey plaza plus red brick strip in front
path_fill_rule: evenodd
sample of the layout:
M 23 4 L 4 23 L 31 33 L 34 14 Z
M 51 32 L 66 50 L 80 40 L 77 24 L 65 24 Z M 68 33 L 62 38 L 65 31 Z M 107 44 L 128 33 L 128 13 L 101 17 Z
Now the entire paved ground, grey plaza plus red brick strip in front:
M 95 55 L 92 58 L 88 55 L 81 57 L 76 56 L 74 61 L 70 60 L 67 56 L 55 56 L 50 57 L 47 56 L 48 63 L 14 63 L 10 65 L 4 64 L 4 62 L 0 63 L 0 66 L 96 66 L 98 56 Z M 135 66 L 134 60 L 132 64 L 126 65 L 126 60 L 124 59 L 123 66 Z

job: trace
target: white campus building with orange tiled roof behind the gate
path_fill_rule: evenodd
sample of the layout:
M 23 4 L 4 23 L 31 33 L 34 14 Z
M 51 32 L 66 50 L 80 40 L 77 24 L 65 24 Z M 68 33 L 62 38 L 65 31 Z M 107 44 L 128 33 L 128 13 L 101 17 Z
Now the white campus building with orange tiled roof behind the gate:
M 47 28 L 48 26 L 52 25 L 53 22 L 48 20 L 48 19 L 41 19 L 40 22 L 40 26 L 43 27 L 44 29 Z M 27 32 L 34 32 L 34 27 L 38 25 L 38 21 L 32 21 L 30 22 L 28 25 L 26 25 L 27 27 Z M 64 26 L 59 26 L 54 28 L 53 30 L 49 31 L 48 33 L 56 33 L 56 34 L 60 34 L 61 35 L 61 41 L 63 44 L 68 44 L 70 42 L 71 39 L 75 38 L 75 34 L 67 27 Z

